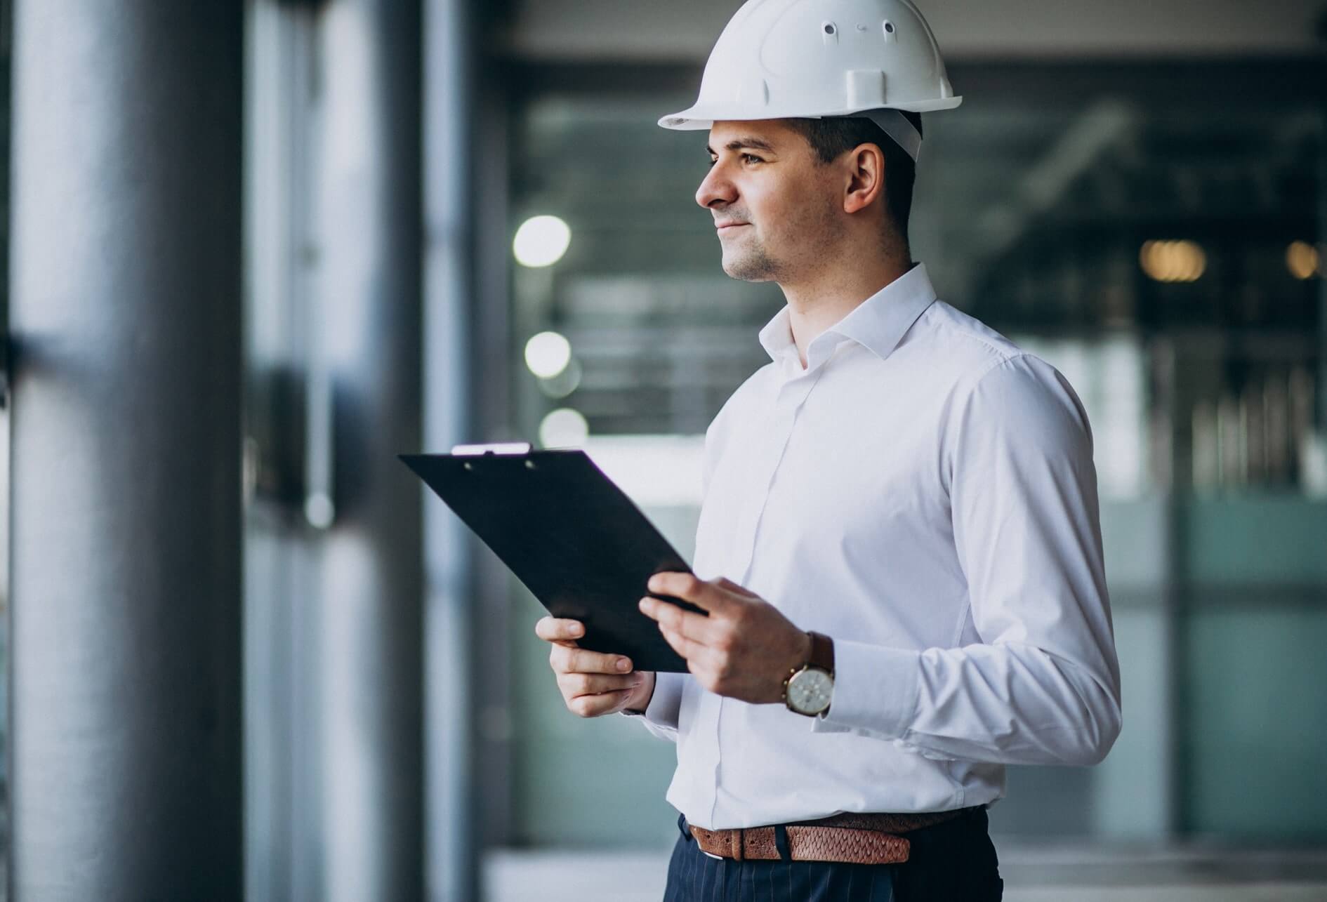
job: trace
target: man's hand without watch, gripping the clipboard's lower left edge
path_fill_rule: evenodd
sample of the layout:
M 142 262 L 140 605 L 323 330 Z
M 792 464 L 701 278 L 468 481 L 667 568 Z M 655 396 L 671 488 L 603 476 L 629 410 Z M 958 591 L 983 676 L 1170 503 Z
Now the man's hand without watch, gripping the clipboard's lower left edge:
M 622 655 L 600 654 L 576 645 L 585 635 L 580 621 L 544 617 L 535 635 L 551 642 L 548 663 L 557 674 L 557 688 L 572 714 L 597 718 L 624 708 L 644 711 L 654 695 L 654 671 L 633 671 Z M 625 667 L 618 665 L 625 662 Z

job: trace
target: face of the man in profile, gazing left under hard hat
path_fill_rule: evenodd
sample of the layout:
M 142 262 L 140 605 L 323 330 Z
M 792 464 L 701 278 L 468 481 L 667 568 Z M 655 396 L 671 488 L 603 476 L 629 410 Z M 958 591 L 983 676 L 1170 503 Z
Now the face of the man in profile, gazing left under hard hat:
M 836 170 L 776 119 L 715 122 L 711 167 L 695 202 L 714 215 L 723 272 L 746 281 L 796 283 L 825 265 L 843 232 Z

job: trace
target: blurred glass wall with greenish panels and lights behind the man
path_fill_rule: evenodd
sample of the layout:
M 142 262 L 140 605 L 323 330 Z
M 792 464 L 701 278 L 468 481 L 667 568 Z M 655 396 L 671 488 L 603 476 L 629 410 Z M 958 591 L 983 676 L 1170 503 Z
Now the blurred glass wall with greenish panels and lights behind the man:
M 950 74 L 966 99 L 925 119 L 913 256 L 1088 409 L 1124 680 L 1107 761 L 1013 768 L 993 828 L 1322 838 L 1303 800 L 1327 797 L 1323 68 Z M 783 305 L 719 268 L 693 199 L 706 134 L 654 125 L 694 77 L 515 73 L 537 88 L 511 105 L 508 188 L 515 428 L 584 442 L 686 556 L 699 438 Z M 519 585 L 511 604 L 511 841 L 667 842 L 671 744 L 569 714 L 543 610 Z

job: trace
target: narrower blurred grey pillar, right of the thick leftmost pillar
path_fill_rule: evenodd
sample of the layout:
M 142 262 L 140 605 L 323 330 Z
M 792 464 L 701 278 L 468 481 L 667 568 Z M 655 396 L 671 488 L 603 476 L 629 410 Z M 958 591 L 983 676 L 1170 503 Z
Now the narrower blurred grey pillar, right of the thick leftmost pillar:
M 325 375 L 336 508 L 316 625 L 321 898 L 418 899 L 422 509 L 397 455 L 421 447 L 421 12 L 332 0 L 320 17 L 311 402 Z

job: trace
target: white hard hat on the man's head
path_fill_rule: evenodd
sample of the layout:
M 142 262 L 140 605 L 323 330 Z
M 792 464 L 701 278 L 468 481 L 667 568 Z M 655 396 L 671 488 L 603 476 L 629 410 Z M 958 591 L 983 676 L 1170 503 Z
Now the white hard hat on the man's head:
M 710 52 L 699 99 L 660 125 L 869 114 L 896 141 L 902 131 L 900 143 L 916 158 L 921 137 L 884 110 L 929 113 L 962 102 L 930 25 L 909 0 L 747 0 Z

